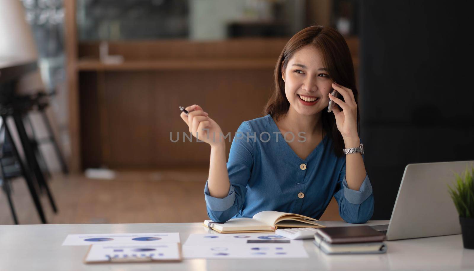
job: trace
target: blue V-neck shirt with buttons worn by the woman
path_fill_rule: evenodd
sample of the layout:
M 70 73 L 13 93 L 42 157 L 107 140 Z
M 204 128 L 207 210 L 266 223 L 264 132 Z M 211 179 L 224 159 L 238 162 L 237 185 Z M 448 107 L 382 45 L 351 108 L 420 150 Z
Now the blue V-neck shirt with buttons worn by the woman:
M 286 136 L 288 141 L 292 138 Z M 294 135 L 294 140 L 303 138 Z M 368 176 L 358 191 L 348 188 L 346 157 L 336 156 L 328 136 L 303 160 L 285 141 L 270 114 L 238 127 L 227 170 L 231 186 L 225 198 L 210 196 L 207 182 L 204 187 L 208 215 L 216 222 L 251 218 L 267 210 L 319 219 L 333 196 L 346 222 L 365 223 L 374 212 Z

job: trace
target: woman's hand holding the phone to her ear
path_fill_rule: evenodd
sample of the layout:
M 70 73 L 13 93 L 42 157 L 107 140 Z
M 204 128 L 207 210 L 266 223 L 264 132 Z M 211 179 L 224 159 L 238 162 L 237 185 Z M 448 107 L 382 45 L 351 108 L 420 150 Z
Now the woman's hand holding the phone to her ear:
M 332 84 L 332 87 L 337 90 L 338 93 L 344 97 L 343 102 L 329 93 L 329 98 L 337 103 L 342 110 L 335 106 L 332 110 L 334 117 L 336 118 L 337 129 L 341 133 L 344 140 L 359 138 L 357 135 L 357 104 L 354 98 L 352 90 L 338 85 L 336 82 Z

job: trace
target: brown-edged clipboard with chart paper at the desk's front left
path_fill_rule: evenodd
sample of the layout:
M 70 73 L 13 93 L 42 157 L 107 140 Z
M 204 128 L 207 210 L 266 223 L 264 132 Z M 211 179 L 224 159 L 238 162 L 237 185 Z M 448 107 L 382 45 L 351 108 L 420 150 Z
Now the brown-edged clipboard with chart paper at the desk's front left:
M 145 256 L 142 255 L 128 255 L 125 254 L 118 254 L 119 256 L 110 256 L 108 254 L 105 254 L 103 259 L 88 259 L 88 257 L 91 254 L 91 250 L 93 249 L 94 246 L 99 246 L 98 249 L 100 249 L 100 246 L 104 246 L 101 244 L 94 244 L 90 245 L 89 249 L 87 250 L 86 255 L 84 256 L 83 263 L 85 264 L 104 264 L 104 263 L 178 263 L 182 261 L 182 250 L 181 250 L 181 243 L 169 243 L 169 244 L 159 244 L 159 245 L 154 245 L 154 246 L 147 246 L 147 247 L 155 247 L 155 246 L 163 246 L 163 245 L 173 245 L 173 248 L 177 250 L 177 257 L 169 258 L 165 257 L 163 259 L 156 258 L 150 256 L 150 254 L 145 254 Z M 117 245 L 120 246 L 120 245 Z M 130 246 L 130 245 L 123 245 L 123 247 L 137 247 L 137 246 Z M 174 247 L 175 246 L 175 247 Z M 146 247 L 146 246 L 144 246 Z M 97 247 L 96 247 L 97 248 Z

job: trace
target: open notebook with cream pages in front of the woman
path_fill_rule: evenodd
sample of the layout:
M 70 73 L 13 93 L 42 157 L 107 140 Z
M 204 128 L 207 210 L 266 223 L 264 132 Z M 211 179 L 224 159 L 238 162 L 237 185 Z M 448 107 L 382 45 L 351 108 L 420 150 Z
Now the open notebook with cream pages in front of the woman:
M 204 226 L 219 233 L 266 232 L 282 228 L 324 228 L 318 221 L 301 214 L 263 211 L 253 218 L 233 218 L 225 223 L 204 220 Z

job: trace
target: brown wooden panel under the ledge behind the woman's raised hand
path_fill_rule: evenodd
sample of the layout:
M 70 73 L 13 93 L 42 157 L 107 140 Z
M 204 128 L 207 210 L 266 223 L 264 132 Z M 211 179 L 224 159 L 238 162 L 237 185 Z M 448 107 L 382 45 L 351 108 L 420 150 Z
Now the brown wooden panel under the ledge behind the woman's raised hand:
M 86 111 L 82 114 L 82 125 L 91 130 L 83 133 L 84 166 L 207 166 L 209 144 L 197 143 L 194 137 L 192 143 L 187 139 L 182 142 L 182 133 L 189 134 L 189 129 L 180 118 L 178 106 L 199 104 L 225 134 L 231 132 L 232 139 L 242 121 L 262 116 L 273 83 L 273 71 L 267 69 L 103 73 L 105 131 L 104 126 L 98 125 L 100 111 L 89 108 L 98 105 L 97 96 L 92 99 L 87 87 L 81 88 L 88 93 L 81 98 L 91 101 L 82 103 L 82 111 Z M 90 80 L 93 84 L 93 77 Z M 89 90 L 93 92 L 92 88 Z M 108 136 L 101 137 L 98 131 Z M 180 140 L 171 142 L 170 132 L 173 138 L 179 132 Z

